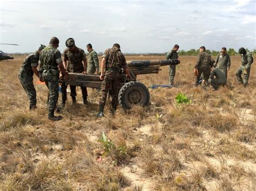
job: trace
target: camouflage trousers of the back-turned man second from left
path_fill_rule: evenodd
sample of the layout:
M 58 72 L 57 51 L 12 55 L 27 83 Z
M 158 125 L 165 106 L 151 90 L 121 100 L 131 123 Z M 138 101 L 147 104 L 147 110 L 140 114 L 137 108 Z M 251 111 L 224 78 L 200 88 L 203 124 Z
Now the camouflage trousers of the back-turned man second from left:
M 55 110 L 59 97 L 58 70 L 45 70 L 42 74 L 46 86 L 49 88 L 49 110 Z

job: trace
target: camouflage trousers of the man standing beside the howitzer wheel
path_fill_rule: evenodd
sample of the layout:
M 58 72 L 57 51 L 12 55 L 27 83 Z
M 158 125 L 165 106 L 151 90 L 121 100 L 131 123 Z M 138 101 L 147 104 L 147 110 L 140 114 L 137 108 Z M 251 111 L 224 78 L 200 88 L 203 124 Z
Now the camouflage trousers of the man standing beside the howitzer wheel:
M 102 86 L 100 89 L 99 104 L 100 105 L 106 104 L 107 93 L 109 93 L 112 96 L 112 102 L 111 102 L 112 107 L 116 109 L 118 105 L 118 94 L 119 94 L 120 88 L 121 88 L 120 77 L 106 75 L 104 77 L 104 80 L 102 81 Z

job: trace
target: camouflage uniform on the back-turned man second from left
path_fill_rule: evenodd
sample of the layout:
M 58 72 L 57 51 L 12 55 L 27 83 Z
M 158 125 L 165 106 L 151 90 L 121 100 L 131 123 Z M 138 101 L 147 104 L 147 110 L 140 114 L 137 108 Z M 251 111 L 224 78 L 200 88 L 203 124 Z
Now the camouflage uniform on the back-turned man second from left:
M 58 63 L 62 62 L 61 54 L 55 47 L 48 46 L 44 48 L 39 56 L 39 65 L 43 70 L 42 77 L 49 88 L 49 114 L 53 115 L 59 97 L 58 84 Z

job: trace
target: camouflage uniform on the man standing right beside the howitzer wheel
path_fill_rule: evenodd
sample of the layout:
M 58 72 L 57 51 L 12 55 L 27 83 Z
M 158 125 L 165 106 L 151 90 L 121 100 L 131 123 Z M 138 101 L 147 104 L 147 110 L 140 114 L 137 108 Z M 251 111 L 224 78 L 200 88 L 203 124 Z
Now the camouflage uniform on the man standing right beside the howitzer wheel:
M 116 110 L 118 105 L 118 93 L 121 88 L 121 68 L 127 68 L 128 65 L 126 64 L 123 53 L 117 48 L 106 49 L 102 57 L 106 59 L 106 69 L 100 90 L 99 104 L 103 106 L 106 104 L 107 93 L 111 90 L 111 104 L 113 109 Z

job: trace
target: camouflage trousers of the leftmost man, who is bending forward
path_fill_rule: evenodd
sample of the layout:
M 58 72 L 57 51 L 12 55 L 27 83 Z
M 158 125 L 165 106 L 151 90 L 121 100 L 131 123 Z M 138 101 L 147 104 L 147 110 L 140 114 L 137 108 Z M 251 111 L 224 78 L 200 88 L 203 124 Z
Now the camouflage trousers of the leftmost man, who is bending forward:
M 36 89 L 33 84 L 33 77 L 18 75 L 19 81 L 21 81 L 22 87 L 26 91 L 29 97 L 30 106 L 36 105 Z

